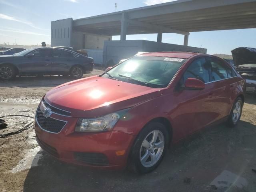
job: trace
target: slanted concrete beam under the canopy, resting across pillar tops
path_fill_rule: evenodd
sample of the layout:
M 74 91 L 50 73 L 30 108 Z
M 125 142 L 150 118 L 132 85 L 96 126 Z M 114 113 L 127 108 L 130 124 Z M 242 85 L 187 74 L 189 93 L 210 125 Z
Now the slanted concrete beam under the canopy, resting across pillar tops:
M 188 32 L 184 32 L 184 31 L 179 31 L 176 29 L 172 29 L 172 28 L 168 28 L 168 27 L 164 27 L 164 26 L 159 26 L 159 25 L 153 25 L 150 23 L 146 23 L 146 22 L 141 22 L 141 21 L 137 21 L 137 20 L 131 20 L 131 19 L 126 19 L 128 23 L 131 24 L 135 24 L 135 25 L 139 25 L 139 26 L 144 26 L 146 28 L 153 28 L 153 29 L 158 29 L 159 32 L 168 32 L 168 33 L 177 33 L 177 34 L 181 34 L 181 35 L 189 35 Z

